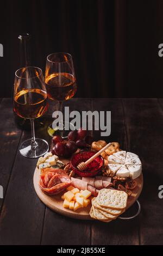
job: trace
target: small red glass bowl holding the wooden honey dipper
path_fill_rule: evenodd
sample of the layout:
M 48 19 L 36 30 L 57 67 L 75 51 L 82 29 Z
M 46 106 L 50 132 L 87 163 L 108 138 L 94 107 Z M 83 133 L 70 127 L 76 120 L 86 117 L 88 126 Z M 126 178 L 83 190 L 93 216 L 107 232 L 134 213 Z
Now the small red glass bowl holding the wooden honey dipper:
M 104 160 L 101 155 L 97 156 L 91 163 L 87 165 L 85 170 L 79 170 L 77 168 L 78 164 L 81 162 L 85 162 L 91 158 L 91 156 L 95 155 L 96 152 L 93 151 L 83 151 L 79 152 L 72 156 L 71 158 L 71 166 L 74 172 L 81 177 L 92 177 L 97 175 L 101 168 L 103 167 Z

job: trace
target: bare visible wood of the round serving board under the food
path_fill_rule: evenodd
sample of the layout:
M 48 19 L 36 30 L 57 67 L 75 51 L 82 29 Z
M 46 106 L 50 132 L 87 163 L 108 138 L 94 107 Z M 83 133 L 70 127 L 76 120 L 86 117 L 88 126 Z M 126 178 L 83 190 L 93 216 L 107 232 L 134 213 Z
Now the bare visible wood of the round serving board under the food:
M 62 162 L 68 162 L 69 160 L 60 159 Z M 89 212 L 91 209 L 91 204 L 87 206 L 87 208 L 80 208 L 77 211 L 72 211 L 67 208 L 64 208 L 63 200 L 61 200 L 61 194 L 57 196 L 48 196 L 47 194 L 43 193 L 39 187 L 39 180 L 40 180 L 40 171 L 38 168 L 35 169 L 33 182 L 34 188 L 36 191 L 37 196 L 40 200 L 47 205 L 50 209 L 59 214 L 71 217 L 71 218 L 78 218 L 80 220 L 93 220 L 90 217 Z M 143 187 L 143 175 L 141 174 L 137 179 L 137 186 L 134 190 L 132 190 L 132 195 L 128 198 L 127 201 L 127 209 L 135 203 L 135 200 L 140 196 Z

